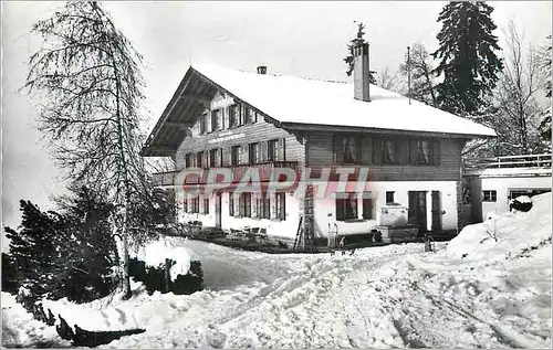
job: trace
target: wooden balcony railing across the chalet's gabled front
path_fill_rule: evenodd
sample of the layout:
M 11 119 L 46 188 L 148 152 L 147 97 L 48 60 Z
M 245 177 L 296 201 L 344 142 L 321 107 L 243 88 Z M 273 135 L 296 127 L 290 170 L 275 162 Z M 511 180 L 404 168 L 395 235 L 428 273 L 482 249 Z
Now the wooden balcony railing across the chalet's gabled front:
M 236 165 L 236 166 L 222 166 L 218 168 L 227 168 L 232 170 L 232 182 L 238 182 L 242 179 L 243 174 L 248 169 L 255 169 L 259 172 L 260 181 L 269 181 L 271 180 L 271 174 L 273 169 L 275 168 L 290 168 L 294 171 L 298 171 L 298 162 L 296 161 L 273 161 L 273 162 L 263 162 L 263 163 L 254 163 L 254 165 Z M 196 168 L 197 169 L 197 168 Z M 209 168 L 202 169 L 202 174 L 200 177 L 189 176 L 186 179 L 186 183 L 207 183 L 207 176 L 209 173 Z M 180 171 L 169 171 L 169 172 L 157 172 L 154 173 L 153 182 L 156 187 L 161 185 L 174 185 L 175 180 Z

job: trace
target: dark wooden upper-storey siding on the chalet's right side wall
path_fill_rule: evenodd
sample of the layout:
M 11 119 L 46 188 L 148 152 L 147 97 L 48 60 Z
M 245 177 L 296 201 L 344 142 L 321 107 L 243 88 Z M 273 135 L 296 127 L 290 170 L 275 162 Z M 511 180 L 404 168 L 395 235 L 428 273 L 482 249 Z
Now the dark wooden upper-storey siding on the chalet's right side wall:
M 461 150 L 465 139 L 435 138 L 439 140 L 439 165 L 375 165 L 373 161 L 373 139 L 382 135 L 364 134 L 361 137 L 361 163 L 371 168 L 373 181 L 421 181 L 421 180 L 460 180 Z M 384 136 L 385 139 L 398 138 L 408 142 L 407 136 Z M 306 167 L 340 166 L 333 159 L 333 135 L 312 131 L 306 135 Z

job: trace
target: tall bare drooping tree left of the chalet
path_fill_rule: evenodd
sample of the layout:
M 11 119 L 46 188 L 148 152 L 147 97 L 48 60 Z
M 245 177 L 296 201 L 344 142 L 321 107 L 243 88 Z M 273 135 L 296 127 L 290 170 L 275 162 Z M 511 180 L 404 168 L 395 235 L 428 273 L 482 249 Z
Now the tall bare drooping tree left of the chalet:
M 38 126 L 70 182 L 104 193 L 118 212 L 114 234 L 128 278 L 128 215 L 133 198 L 149 193 L 139 157 L 142 56 L 96 1 L 70 1 L 33 25 L 42 47 L 30 57 L 24 87 L 39 95 Z

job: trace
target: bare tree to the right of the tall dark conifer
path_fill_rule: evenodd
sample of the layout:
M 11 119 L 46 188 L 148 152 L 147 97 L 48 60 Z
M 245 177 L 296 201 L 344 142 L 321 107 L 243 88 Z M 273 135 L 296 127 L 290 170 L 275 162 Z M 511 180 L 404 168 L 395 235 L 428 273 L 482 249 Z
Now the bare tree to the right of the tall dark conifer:
M 542 86 L 536 50 L 524 54 L 523 38 L 514 22 L 503 29 L 507 39 L 504 70 L 500 75 L 495 98 L 500 118 L 494 123 L 500 148 L 511 155 L 536 151 L 539 116 L 542 114 L 536 93 Z

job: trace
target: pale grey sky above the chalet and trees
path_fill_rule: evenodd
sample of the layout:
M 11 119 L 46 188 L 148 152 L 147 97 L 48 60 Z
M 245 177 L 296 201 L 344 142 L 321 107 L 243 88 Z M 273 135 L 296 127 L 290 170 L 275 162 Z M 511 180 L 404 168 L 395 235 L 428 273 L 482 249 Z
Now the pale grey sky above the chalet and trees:
M 437 22 L 445 1 L 324 2 L 103 2 L 114 23 L 144 55 L 145 107 L 149 131 L 190 63 L 210 63 L 270 73 L 348 81 L 343 59 L 356 33 L 366 25 L 371 67 L 396 71 L 406 47 L 424 43 L 437 49 Z M 526 44 L 543 44 L 551 34 L 551 1 L 492 1 L 499 28 L 513 19 Z M 40 41 L 28 35 L 32 24 L 50 17 L 63 2 L 2 1 L 2 222 L 20 223 L 19 200 L 43 209 L 63 191 L 60 170 L 34 129 L 36 110 L 18 93 L 27 61 Z M 500 30 L 495 34 L 502 42 Z

